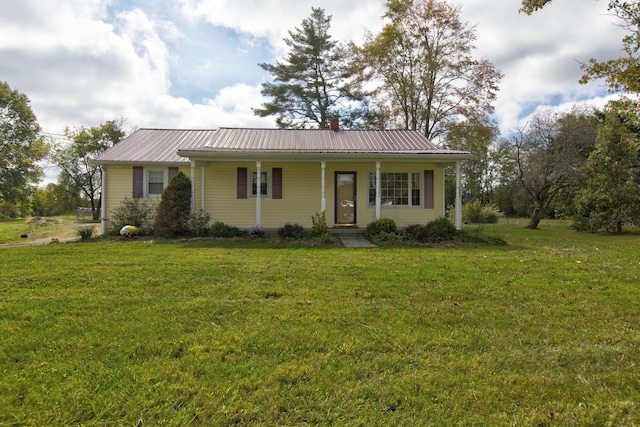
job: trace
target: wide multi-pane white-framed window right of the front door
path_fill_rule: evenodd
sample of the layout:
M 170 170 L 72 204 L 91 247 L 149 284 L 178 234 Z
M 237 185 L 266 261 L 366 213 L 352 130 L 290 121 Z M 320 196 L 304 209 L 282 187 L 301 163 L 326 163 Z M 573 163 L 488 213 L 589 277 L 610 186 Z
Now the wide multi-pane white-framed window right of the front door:
M 385 207 L 419 207 L 422 200 L 420 172 L 381 172 L 380 204 Z M 376 204 L 376 173 L 369 172 L 369 206 Z

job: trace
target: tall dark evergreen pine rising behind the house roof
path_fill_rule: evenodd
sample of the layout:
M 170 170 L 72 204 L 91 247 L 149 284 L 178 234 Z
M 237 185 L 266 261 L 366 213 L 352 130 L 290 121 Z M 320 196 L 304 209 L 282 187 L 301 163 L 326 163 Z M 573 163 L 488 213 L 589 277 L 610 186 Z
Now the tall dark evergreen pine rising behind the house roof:
M 289 31 L 284 41 L 290 50 L 283 61 L 259 64 L 273 81 L 262 84 L 270 98 L 255 108 L 260 117 L 276 116 L 281 128 L 328 128 L 334 116 L 348 115 L 350 104 L 360 100 L 350 79 L 347 51 L 329 34 L 331 16 L 312 8 L 302 26 Z

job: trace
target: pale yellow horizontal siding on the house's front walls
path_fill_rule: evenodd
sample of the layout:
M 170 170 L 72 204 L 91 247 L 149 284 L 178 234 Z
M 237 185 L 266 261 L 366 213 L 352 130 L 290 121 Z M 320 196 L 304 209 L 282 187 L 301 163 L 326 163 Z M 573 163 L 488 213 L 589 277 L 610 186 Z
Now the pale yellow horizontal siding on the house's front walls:
M 208 162 L 195 168 L 195 177 L 191 177 L 189 165 L 180 167 L 180 171 L 193 180 L 195 188 L 195 210 L 204 211 L 211 216 L 211 222 L 222 221 L 240 228 L 250 228 L 256 224 L 256 198 L 237 198 L 237 168 L 246 167 L 248 171 L 256 169 L 255 162 Z M 262 171 L 269 173 L 269 186 L 272 185 L 271 169 L 282 168 L 282 199 L 261 197 L 261 223 L 265 228 L 280 228 L 285 223 L 298 223 L 311 227 L 311 216 L 321 210 L 321 167 L 320 162 L 308 163 L 269 163 L 263 162 Z M 105 198 L 107 218 L 111 210 L 120 205 L 126 197 L 132 197 L 133 167 L 105 166 L 107 173 L 107 195 Z M 375 172 L 375 163 L 332 163 L 327 162 L 325 170 L 326 217 L 330 227 L 335 224 L 334 191 L 336 172 L 356 172 L 357 177 L 357 225 L 365 227 L 375 220 L 375 206 L 369 206 L 368 178 Z M 390 164 L 382 163 L 381 172 L 422 172 L 434 171 L 434 209 L 421 207 L 381 208 L 382 218 L 391 218 L 399 227 L 410 224 L 425 224 L 441 217 L 444 213 L 443 179 L 441 167 L 435 164 Z M 202 177 L 204 173 L 204 191 Z M 203 200 L 204 196 L 204 200 Z M 153 199 L 157 201 L 157 199 Z

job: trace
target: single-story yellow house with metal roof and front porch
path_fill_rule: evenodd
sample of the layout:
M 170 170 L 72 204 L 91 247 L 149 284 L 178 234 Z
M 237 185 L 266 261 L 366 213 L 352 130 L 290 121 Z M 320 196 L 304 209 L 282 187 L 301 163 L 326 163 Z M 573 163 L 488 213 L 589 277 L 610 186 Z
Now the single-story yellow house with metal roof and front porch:
M 179 170 L 191 178 L 191 210 L 239 228 L 364 227 L 392 218 L 399 227 L 445 214 L 444 168 L 466 151 L 437 148 L 407 130 L 139 129 L 102 153 L 102 229 L 126 197 L 160 199 Z M 455 223 L 461 228 L 460 209 Z

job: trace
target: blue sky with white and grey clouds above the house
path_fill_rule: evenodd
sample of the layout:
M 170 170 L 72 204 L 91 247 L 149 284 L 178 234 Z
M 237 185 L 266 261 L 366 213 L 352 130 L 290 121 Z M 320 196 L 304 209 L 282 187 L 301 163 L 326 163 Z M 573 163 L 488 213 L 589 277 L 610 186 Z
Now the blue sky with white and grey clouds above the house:
M 555 0 L 533 16 L 519 0 L 461 0 L 476 25 L 477 57 L 504 78 L 495 120 L 503 134 L 545 106 L 603 104 L 600 83 L 580 85 L 579 62 L 620 56 L 622 33 L 606 0 Z M 331 34 L 362 39 L 384 21 L 385 0 L 0 0 L 0 81 L 25 93 L 43 131 L 273 127 L 251 108 L 270 75 L 257 64 L 286 53 L 287 30 L 312 6 Z

